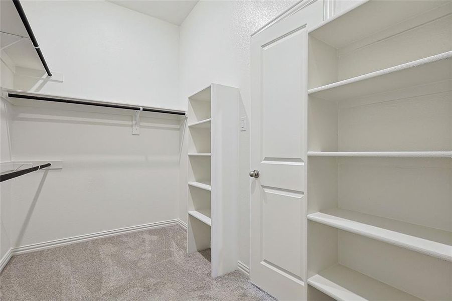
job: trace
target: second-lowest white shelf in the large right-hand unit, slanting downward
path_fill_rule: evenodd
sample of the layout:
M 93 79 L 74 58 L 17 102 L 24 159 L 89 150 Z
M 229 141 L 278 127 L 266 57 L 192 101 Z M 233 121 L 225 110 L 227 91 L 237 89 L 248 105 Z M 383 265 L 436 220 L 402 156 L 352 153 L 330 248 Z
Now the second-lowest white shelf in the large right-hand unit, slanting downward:
M 308 219 L 452 262 L 452 232 L 343 209 L 328 209 Z

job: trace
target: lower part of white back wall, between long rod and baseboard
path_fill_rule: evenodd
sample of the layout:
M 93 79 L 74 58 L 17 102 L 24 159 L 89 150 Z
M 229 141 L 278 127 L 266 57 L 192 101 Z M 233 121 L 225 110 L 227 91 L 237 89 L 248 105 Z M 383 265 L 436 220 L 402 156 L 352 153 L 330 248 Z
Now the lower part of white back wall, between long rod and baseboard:
M 178 120 L 12 108 L 13 160 L 63 161 L 9 181 L 13 246 L 177 218 Z

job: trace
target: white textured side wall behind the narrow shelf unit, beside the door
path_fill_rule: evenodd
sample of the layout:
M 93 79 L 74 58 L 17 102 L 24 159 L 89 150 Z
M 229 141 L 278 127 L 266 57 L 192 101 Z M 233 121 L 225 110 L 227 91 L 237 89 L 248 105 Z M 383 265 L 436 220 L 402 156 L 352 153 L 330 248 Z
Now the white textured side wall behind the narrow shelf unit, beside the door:
M 200 1 L 180 29 L 179 98 L 218 83 L 240 89 L 240 116 L 250 112 L 250 35 L 296 1 Z M 249 125 L 248 125 L 249 129 Z M 239 260 L 249 265 L 249 131 L 240 132 Z M 181 159 L 181 183 L 186 159 Z M 179 216 L 187 219 L 187 191 L 181 185 Z

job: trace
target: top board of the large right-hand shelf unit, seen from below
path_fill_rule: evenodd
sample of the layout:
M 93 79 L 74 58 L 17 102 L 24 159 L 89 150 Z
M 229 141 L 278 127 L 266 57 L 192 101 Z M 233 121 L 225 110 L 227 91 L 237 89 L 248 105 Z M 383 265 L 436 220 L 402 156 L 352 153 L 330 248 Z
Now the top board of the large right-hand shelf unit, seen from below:
M 357 5 L 351 9 L 321 23 L 311 30 L 310 35 L 340 49 L 398 25 L 402 21 L 446 5 L 447 1 L 365 1 L 364 4 L 362 3 L 363 1 L 358 1 Z M 413 19 L 413 22 L 416 22 L 416 18 Z

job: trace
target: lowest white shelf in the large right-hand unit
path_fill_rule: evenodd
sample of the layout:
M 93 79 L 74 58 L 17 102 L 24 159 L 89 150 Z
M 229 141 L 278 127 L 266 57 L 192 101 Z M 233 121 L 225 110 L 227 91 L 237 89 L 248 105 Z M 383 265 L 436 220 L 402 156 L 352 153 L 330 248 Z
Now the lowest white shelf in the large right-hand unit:
M 308 278 L 308 284 L 340 301 L 421 300 L 340 264 Z

